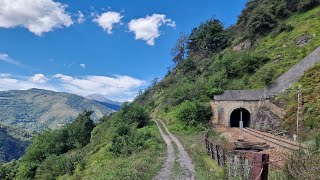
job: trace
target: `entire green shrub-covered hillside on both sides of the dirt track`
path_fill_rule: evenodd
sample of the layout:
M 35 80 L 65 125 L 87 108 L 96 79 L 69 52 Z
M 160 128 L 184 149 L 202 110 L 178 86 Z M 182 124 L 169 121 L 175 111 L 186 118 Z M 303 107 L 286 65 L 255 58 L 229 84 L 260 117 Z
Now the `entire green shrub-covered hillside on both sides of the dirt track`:
M 225 28 L 217 19 L 204 21 L 178 40 L 172 51 L 175 67 L 133 103 L 124 104 L 119 112 L 101 119 L 94 128 L 86 112 L 65 128 L 37 136 L 20 161 L 0 168 L 0 176 L 152 179 L 165 161 L 165 144 L 150 121 L 152 114 L 165 120 L 169 129 L 181 137 L 194 161 L 197 179 L 223 179 L 223 171 L 208 159 L 201 144 L 203 139 L 199 138 L 208 130 L 211 97 L 226 89 L 262 88 L 315 50 L 320 45 L 319 3 L 250 0 L 234 26 Z M 318 86 L 318 71 L 316 65 L 300 82 Z M 306 139 L 316 139 L 319 146 L 316 92 L 304 92 L 310 101 L 304 107 L 301 128 L 313 132 Z M 294 116 L 290 103 L 295 94 L 284 93 L 278 98 L 289 112 L 283 127 L 290 130 Z M 310 157 L 313 161 L 305 161 L 305 166 L 320 162 L 317 151 Z M 173 167 L 173 171 L 179 170 Z M 314 173 L 317 172 L 310 172 Z M 305 178 L 292 177 L 285 169 L 283 174 L 282 179 Z

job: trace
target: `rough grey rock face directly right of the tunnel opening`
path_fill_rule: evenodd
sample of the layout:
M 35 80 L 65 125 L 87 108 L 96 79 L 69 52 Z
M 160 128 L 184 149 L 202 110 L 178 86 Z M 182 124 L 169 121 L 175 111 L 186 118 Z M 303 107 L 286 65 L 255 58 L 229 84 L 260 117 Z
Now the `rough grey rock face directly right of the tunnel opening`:
M 276 129 L 280 125 L 280 118 L 267 108 L 260 108 L 256 113 L 253 121 L 253 128 L 267 131 Z

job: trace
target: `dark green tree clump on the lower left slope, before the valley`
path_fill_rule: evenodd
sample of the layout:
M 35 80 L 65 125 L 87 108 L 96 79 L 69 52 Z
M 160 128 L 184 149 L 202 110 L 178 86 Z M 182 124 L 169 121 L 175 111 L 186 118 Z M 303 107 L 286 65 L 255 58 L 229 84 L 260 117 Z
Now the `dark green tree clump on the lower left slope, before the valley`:
M 94 123 L 90 118 L 92 113 L 83 112 L 66 128 L 48 130 L 36 136 L 20 161 L 17 178 L 30 179 L 36 175 L 41 175 L 43 170 L 40 171 L 39 167 L 43 168 L 43 166 L 50 165 L 52 162 L 56 162 L 56 168 L 61 168 L 61 170 L 74 168 L 72 166 L 59 167 L 65 164 L 64 161 L 66 161 L 59 155 L 65 154 L 72 149 L 81 148 L 90 142 L 91 131 L 94 128 Z M 58 161 L 61 163 L 57 163 Z M 64 171 L 59 172 L 64 173 Z

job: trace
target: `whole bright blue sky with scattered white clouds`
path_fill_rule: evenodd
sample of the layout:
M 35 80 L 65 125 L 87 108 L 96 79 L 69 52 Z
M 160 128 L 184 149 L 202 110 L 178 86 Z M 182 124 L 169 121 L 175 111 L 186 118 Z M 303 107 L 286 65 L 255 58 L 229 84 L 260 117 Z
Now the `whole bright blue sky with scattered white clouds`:
M 0 0 L 0 90 L 131 100 L 171 66 L 181 32 L 236 22 L 246 0 Z

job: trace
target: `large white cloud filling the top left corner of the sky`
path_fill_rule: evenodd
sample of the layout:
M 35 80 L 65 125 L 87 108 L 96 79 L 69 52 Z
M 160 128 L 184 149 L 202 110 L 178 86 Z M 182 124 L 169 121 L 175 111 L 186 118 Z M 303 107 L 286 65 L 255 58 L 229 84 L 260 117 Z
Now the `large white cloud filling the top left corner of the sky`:
M 41 36 L 73 24 L 67 6 L 53 0 L 1 0 L 0 27 L 24 27 Z

